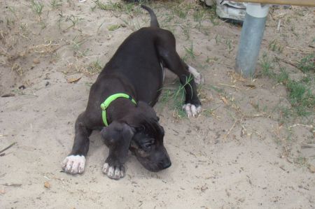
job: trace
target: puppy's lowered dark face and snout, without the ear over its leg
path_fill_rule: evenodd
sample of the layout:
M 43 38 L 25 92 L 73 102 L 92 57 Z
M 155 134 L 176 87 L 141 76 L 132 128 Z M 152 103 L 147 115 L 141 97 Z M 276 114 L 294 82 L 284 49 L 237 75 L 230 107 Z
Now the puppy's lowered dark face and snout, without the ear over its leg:
M 135 129 L 130 150 L 148 171 L 160 171 L 171 166 L 169 154 L 163 145 L 165 131 L 158 123 L 159 118 L 148 104 L 139 101 L 137 113 L 129 121 Z

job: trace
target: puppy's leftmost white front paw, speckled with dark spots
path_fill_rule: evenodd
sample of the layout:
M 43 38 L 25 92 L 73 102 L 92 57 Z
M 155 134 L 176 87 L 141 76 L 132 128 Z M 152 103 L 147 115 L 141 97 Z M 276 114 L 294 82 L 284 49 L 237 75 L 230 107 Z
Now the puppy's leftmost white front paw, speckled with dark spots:
M 81 155 L 69 155 L 62 161 L 62 169 L 66 173 L 83 173 L 85 167 L 85 157 Z

